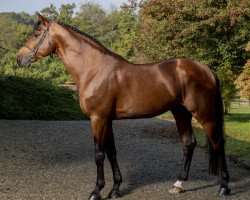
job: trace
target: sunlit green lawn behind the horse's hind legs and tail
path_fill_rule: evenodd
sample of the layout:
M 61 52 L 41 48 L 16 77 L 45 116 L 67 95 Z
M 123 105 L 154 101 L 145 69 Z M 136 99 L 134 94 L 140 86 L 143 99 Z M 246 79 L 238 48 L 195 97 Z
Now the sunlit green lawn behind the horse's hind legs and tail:
M 161 119 L 174 120 L 167 112 Z M 226 133 L 226 154 L 238 160 L 250 160 L 250 106 L 249 103 L 232 103 L 229 115 L 224 117 Z M 197 122 L 193 122 L 198 145 L 206 144 L 206 136 Z

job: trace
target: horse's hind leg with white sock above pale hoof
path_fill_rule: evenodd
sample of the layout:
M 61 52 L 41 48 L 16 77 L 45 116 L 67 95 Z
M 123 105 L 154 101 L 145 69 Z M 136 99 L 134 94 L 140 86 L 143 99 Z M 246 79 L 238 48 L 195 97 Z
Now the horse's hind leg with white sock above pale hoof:
M 183 145 L 183 160 L 178 180 L 174 184 L 174 187 L 170 189 L 170 193 L 180 193 L 184 192 L 182 182 L 188 180 L 188 174 L 190 170 L 190 164 L 194 148 L 196 145 L 196 140 L 194 138 L 193 129 L 191 125 L 191 113 L 182 105 L 178 105 L 173 110 L 171 110 L 171 112 L 174 115 L 176 126 Z

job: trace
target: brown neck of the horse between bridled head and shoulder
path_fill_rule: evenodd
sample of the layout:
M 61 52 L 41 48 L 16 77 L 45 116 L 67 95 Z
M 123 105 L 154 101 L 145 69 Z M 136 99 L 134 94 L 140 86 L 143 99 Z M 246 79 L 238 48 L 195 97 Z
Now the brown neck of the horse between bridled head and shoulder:
M 54 35 L 56 54 L 61 58 L 76 84 L 79 84 L 83 75 L 94 76 L 97 68 L 101 67 L 96 63 L 102 63 L 101 59 L 107 53 L 111 53 L 91 38 L 59 25 Z

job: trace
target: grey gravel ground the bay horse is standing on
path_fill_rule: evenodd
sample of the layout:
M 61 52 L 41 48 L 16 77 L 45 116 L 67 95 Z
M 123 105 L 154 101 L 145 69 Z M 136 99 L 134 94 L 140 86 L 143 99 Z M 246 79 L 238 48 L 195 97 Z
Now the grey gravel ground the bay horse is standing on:
M 250 173 L 228 163 L 232 195 L 219 198 L 218 179 L 196 148 L 185 183 L 187 192 L 171 195 L 181 164 L 181 145 L 172 122 L 156 119 L 114 122 L 123 200 L 250 199 Z M 94 188 L 96 168 L 89 121 L 0 120 L 1 200 L 84 200 Z M 112 172 L 105 162 L 105 197 Z

